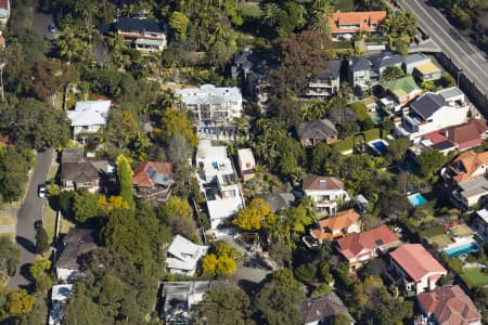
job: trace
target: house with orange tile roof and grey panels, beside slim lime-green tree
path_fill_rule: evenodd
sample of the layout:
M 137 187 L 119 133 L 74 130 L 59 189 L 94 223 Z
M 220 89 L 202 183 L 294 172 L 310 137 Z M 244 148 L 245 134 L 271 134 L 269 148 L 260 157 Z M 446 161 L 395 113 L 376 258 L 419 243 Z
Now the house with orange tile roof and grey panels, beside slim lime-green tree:
M 163 161 L 139 161 L 132 177 L 132 185 L 138 198 L 165 202 L 171 195 L 172 164 Z

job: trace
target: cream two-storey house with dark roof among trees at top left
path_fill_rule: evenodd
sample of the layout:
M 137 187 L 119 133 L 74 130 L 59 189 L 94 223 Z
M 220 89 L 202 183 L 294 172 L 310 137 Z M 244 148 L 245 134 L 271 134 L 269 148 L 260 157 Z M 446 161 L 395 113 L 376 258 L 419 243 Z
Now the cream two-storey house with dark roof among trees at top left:
M 159 21 L 118 17 L 115 28 L 124 37 L 126 44 L 138 51 L 151 53 L 166 49 L 167 31 Z

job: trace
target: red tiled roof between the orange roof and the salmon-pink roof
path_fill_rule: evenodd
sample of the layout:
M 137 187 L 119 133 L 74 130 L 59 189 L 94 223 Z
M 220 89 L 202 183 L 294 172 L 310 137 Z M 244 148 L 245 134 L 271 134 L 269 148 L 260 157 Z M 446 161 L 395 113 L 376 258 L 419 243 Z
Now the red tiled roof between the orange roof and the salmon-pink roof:
M 351 234 L 338 239 L 337 244 L 341 253 L 347 259 L 351 259 L 363 249 L 374 250 L 396 242 L 400 243 L 398 236 L 388 226 L 382 225 L 360 234 Z

